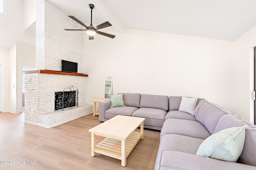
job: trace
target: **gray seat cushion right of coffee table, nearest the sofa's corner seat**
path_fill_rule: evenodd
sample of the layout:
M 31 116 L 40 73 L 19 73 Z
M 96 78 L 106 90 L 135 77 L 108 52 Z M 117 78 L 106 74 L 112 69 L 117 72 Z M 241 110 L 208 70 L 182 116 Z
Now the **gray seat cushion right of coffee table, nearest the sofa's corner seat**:
M 206 139 L 211 134 L 198 121 L 185 119 L 166 119 L 160 132 L 160 139 L 165 134 L 178 134 L 199 139 Z

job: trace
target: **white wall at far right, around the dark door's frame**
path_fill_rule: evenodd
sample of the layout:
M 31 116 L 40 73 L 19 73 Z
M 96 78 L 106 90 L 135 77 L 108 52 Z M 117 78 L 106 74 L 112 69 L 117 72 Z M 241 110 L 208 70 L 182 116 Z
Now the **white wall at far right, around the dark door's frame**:
M 243 119 L 253 118 L 252 91 L 253 47 L 256 47 L 256 26 L 236 40 L 234 55 L 234 110 Z M 250 88 L 251 87 L 251 88 Z M 253 119 L 251 121 L 253 122 Z

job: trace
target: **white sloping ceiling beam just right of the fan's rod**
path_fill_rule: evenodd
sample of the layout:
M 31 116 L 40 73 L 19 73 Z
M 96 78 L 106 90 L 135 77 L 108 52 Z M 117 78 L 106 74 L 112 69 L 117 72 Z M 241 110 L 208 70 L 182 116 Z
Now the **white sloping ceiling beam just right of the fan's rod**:
M 98 13 L 102 15 L 102 17 L 109 21 L 112 26 L 120 33 L 124 33 L 124 26 L 120 24 L 118 19 L 114 17 L 109 10 L 107 10 L 102 3 L 100 3 L 98 0 L 88 0 L 90 4 L 94 4 L 95 8 L 94 10 L 97 10 Z

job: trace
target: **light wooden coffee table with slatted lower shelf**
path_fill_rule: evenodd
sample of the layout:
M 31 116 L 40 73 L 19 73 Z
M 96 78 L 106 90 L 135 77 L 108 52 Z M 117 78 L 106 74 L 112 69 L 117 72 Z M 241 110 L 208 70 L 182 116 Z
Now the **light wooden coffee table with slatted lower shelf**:
M 145 118 L 117 115 L 89 130 L 92 133 L 92 152 L 121 160 L 126 166 L 126 158 L 140 139 L 144 138 Z M 140 132 L 135 131 L 140 126 Z M 106 137 L 96 145 L 96 135 Z

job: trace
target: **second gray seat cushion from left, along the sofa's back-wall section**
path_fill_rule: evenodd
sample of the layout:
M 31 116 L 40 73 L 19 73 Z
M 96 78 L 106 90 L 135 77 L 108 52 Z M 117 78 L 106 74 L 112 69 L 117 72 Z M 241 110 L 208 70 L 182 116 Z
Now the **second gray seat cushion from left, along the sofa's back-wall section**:
M 144 125 L 162 127 L 167 111 L 162 109 L 141 107 L 132 113 L 134 117 L 145 118 Z

